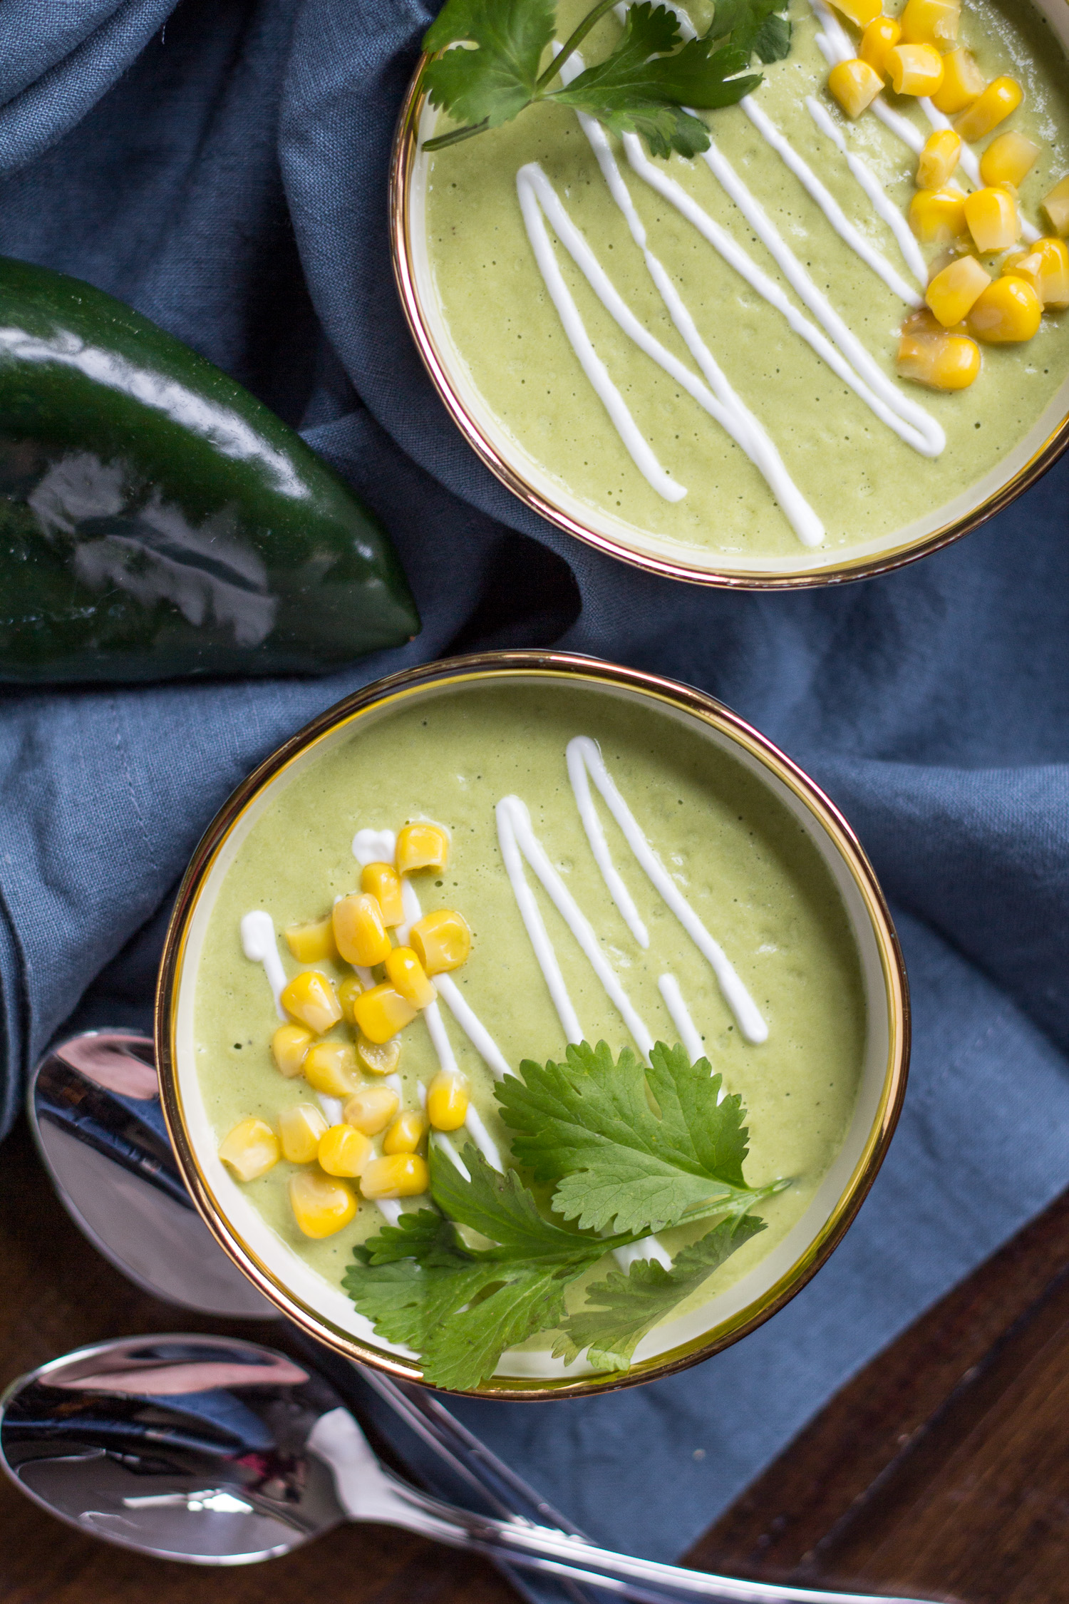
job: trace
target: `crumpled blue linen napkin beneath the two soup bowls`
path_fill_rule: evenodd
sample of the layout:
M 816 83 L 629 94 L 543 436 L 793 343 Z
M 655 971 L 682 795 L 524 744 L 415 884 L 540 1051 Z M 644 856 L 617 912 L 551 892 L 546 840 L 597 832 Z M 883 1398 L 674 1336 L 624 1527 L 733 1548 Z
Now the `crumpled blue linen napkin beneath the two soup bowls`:
M 0 0 L 0 250 L 120 295 L 301 423 L 385 518 L 425 629 L 325 680 L 0 695 L 3 1126 L 83 994 L 80 1023 L 146 1022 L 204 824 L 354 687 L 556 642 L 721 696 L 829 788 L 896 906 L 899 1134 L 830 1264 L 726 1354 L 583 1402 L 457 1405 L 593 1537 L 672 1557 L 1064 1184 L 1069 468 L 843 589 L 721 595 L 587 550 L 470 454 L 397 310 L 386 164 L 426 11 L 183 0 L 146 43 L 167 10 Z

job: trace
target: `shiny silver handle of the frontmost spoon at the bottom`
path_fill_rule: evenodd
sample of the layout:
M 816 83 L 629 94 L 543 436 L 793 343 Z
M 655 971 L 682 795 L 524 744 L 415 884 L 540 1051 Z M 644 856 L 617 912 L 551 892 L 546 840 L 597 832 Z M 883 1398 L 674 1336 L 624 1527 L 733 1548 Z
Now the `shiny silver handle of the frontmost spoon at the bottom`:
M 832 1593 L 686 1570 L 633 1554 L 614 1554 L 571 1532 L 527 1521 L 497 1521 L 442 1503 L 380 1466 L 346 1410 L 321 1416 L 308 1447 L 330 1466 L 341 1508 L 354 1521 L 399 1525 L 450 1548 L 466 1548 L 487 1559 L 599 1586 L 639 1604 L 667 1604 L 668 1599 L 680 1604 L 684 1599 L 715 1599 L 716 1604 L 920 1604 L 918 1599 Z

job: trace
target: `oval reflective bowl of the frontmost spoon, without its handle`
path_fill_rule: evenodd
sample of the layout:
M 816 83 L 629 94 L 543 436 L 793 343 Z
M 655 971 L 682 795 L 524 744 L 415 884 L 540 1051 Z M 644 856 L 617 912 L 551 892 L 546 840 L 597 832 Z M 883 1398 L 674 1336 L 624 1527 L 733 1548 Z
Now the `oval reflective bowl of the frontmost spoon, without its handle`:
M 272 1559 L 345 1521 L 306 1442 L 341 1400 L 282 1354 L 210 1336 L 80 1349 L 0 1400 L 0 1463 L 34 1503 L 120 1548 Z

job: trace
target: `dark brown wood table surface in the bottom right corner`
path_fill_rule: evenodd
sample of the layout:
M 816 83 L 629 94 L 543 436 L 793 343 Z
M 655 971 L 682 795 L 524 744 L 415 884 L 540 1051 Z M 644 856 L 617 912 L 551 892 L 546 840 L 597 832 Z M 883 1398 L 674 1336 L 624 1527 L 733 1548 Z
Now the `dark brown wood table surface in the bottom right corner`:
M 1069 1604 L 1069 1193 L 845 1386 L 691 1549 L 766 1580 Z

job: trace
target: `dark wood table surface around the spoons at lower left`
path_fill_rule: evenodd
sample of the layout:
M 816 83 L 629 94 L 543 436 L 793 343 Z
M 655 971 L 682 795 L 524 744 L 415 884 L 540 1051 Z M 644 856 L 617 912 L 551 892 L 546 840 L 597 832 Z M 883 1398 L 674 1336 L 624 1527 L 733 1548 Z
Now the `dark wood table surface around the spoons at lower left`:
M 0 1148 L 0 1386 L 83 1343 L 143 1331 L 226 1331 L 285 1346 L 264 1322 L 200 1318 L 147 1298 L 82 1238 L 21 1126 Z M 0 1604 L 516 1604 L 484 1561 L 353 1525 L 239 1569 L 192 1569 L 61 1525 L 0 1477 Z

